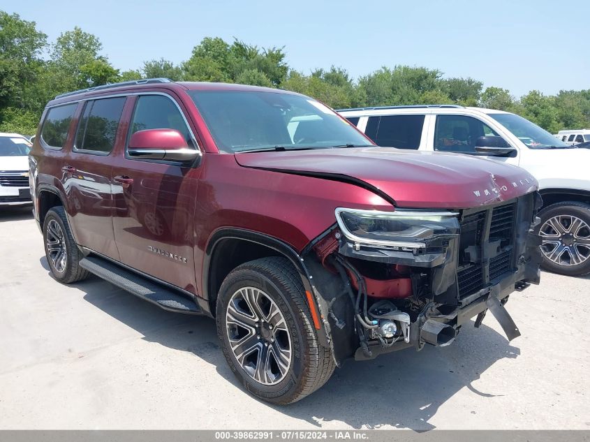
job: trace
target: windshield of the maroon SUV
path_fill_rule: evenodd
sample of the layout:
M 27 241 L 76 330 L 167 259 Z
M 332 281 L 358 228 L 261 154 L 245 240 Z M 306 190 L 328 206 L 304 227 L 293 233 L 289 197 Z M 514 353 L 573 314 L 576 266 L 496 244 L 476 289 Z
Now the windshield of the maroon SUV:
M 262 91 L 189 91 L 217 147 L 321 149 L 372 145 L 354 126 L 311 98 Z

